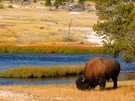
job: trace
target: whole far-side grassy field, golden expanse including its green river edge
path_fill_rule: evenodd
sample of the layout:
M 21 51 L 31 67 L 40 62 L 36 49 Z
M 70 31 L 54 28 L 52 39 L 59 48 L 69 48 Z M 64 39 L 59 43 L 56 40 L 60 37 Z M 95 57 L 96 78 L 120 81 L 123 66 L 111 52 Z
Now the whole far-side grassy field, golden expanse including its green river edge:
M 94 9 L 94 3 L 89 3 L 89 9 Z M 54 7 L 50 11 L 40 3 L 3 1 L 1 5 L 4 8 L 0 9 L 0 53 L 103 53 L 95 49 L 97 44 L 87 40 L 98 19 L 94 12 Z

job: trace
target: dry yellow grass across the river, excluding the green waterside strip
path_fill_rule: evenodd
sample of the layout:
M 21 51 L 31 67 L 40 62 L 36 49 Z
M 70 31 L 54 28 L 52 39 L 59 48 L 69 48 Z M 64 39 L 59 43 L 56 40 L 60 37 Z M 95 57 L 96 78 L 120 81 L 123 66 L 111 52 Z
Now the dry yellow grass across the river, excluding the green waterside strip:
M 0 44 L 11 45 L 44 45 L 46 43 L 62 43 L 68 32 L 72 19 L 71 29 L 74 43 L 85 41 L 87 30 L 81 27 L 92 27 L 97 22 L 95 13 L 79 12 L 72 14 L 67 10 L 48 11 L 48 8 L 38 9 L 27 5 L 29 8 L 4 8 L 0 9 Z M 70 44 L 71 44 L 70 43 Z

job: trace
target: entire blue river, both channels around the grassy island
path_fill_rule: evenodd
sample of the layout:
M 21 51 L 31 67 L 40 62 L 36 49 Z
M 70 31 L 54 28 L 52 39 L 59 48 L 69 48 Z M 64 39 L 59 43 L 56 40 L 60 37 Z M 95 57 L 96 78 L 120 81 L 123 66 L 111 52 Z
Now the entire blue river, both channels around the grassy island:
M 93 57 L 112 58 L 104 54 L 0 54 L 0 71 L 19 66 L 53 66 L 53 65 L 74 65 L 85 64 Z M 134 74 L 123 74 L 124 71 L 135 71 L 135 63 L 125 63 L 121 57 L 116 58 L 121 64 L 119 80 L 135 79 Z M 76 77 L 53 78 L 53 79 L 10 79 L 0 78 L 1 85 L 9 84 L 61 84 L 73 83 Z

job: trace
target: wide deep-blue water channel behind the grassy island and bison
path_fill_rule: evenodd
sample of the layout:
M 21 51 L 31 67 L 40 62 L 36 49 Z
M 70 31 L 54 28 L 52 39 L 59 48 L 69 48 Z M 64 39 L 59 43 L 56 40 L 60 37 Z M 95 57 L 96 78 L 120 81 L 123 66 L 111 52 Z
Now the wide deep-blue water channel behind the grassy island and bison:
M 52 66 L 85 64 L 93 57 L 112 58 L 105 54 L 0 54 L 0 70 L 19 66 Z M 121 71 L 135 70 L 135 63 L 127 64 L 121 57 L 116 58 Z

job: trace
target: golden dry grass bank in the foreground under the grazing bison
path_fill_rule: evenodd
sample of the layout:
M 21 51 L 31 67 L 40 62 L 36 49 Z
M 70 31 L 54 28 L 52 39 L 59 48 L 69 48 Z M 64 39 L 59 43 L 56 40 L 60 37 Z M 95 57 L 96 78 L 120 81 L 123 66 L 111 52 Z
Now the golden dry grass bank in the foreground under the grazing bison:
M 134 101 L 135 80 L 119 81 L 113 90 L 112 82 L 107 83 L 106 90 L 99 87 L 92 91 L 80 91 L 75 84 L 60 85 L 9 85 L 0 86 L 1 101 Z

